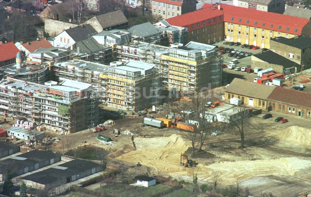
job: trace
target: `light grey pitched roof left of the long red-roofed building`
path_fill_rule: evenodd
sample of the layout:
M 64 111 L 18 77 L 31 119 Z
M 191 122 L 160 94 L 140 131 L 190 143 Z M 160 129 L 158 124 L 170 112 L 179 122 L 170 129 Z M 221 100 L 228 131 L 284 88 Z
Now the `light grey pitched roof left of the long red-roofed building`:
M 156 29 L 150 22 L 142 23 L 132 26 L 128 29 L 133 36 L 149 37 L 159 34 L 159 30 Z

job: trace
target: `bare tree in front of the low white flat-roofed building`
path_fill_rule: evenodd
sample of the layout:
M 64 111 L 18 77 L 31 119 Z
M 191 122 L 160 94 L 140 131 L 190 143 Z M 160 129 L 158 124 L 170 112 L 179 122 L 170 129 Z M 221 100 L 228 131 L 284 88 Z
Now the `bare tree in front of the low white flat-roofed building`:
M 233 110 L 233 113 L 224 114 L 226 122 L 229 123 L 229 128 L 232 128 L 232 131 L 237 132 L 240 135 L 241 148 L 244 148 L 245 134 L 248 131 L 247 128 L 249 122 L 248 111 L 249 110 L 244 107 L 236 106 Z

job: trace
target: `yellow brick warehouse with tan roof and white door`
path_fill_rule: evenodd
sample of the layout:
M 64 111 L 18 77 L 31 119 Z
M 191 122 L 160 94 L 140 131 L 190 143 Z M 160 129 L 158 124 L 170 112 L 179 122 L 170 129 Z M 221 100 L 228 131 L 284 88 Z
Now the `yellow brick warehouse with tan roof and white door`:
M 230 101 L 230 98 L 238 98 L 244 105 L 266 110 L 267 98 L 275 88 L 275 86 L 234 78 L 230 86 L 225 89 L 225 100 Z

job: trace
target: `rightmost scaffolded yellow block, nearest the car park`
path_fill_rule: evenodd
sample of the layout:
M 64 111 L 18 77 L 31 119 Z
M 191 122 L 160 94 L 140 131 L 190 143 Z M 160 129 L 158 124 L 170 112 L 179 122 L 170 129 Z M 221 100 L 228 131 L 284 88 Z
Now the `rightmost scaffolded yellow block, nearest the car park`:
M 221 56 L 215 56 L 215 46 L 189 42 L 185 46 L 170 48 L 161 55 L 168 68 L 168 87 L 183 91 L 200 91 L 221 85 Z

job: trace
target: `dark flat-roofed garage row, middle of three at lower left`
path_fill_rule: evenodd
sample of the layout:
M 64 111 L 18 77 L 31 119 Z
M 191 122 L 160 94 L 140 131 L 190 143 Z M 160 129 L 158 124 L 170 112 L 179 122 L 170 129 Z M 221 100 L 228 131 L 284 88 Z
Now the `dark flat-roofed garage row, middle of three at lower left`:
M 60 155 L 39 150 L 11 157 L 0 161 L 0 181 L 5 179 L 7 171 L 14 173 L 14 176 L 20 176 L 60 161 Z

